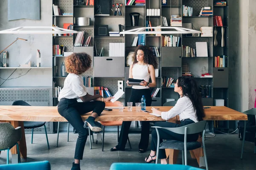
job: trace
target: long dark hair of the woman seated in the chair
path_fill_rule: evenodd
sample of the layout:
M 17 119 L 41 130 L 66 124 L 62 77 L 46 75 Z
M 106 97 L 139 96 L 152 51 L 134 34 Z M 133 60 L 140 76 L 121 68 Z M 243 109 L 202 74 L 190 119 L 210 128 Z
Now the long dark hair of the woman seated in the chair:
M 183 96 L 187 96 L 191 100 L 193 107 L 196 110 L 196 116 L 198 117 L 198 121 L 202 121 L 203 117 L 205 116 L 204 106 L 195 79 L 188 77 L 179 77 L 177 85 L 178 87 L 182 88 Z

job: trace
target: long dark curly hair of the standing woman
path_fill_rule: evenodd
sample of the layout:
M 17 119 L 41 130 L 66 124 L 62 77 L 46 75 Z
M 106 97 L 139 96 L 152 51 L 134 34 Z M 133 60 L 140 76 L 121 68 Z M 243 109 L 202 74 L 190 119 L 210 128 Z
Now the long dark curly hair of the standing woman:
M 144 62 L 149 65 L 153 65 L 154 69 L 158 68 L 157 58 L 154 56 L 153 52 L 150 50 L 150 48 L 147 45 L 141 45 L 138 46 L 135 50 L 134 54 L 134 63 L 137 63 L 137 52 L 138 50 L 142 50 L 144 52 Z

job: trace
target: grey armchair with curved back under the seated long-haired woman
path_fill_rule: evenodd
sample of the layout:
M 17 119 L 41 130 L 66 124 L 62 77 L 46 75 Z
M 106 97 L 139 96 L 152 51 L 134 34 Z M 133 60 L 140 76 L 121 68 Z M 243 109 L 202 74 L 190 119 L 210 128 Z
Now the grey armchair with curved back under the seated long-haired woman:
M 158 154 L 159 149 L 175 149 L 175 150 L 182 150 L 182 164 L 184 164 L 185 159 L 185 165 L 187 165 L 187 150 L 194 150 L 200 147 L 203 147 L 204 149 L 204 160 L 206 169 L 208 170 L 208 164 L 207 164 L 207 156 L 206 156 L 206 150 L 205 150 L 205 144 L 204 144 L 204 137 L 202 137 L 203 146 L 201 146 L 200 142 L 186 142 L 187 141 L 187 135 L 194 134 L 194 133 L 200 133 L 203 132 L 203 136 L 205 134 L 205 126 L 206 126 L 206 120 L 192 123 L 189 125 L 185 125 L 182 127 L 159 127 L 159 126 L 153 126 L 156 128 L 157 131 L 157 159 L 156 164 L 158 161 Z M 183 134 L 184 135 L 184 142 L 180 142 L 177 140 L 166 140 L 160 144 L 160 136 L 158 129 L 166 129 L 174 133 Z

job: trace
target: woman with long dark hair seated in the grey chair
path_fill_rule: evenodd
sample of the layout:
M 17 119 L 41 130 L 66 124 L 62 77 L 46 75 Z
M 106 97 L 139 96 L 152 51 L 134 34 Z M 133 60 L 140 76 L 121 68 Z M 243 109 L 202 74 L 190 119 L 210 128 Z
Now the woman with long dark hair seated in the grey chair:
M 180 124 L 172 122 L 156 122 L 155 126 L 160 127 L 181 127 L 202 121 L 204 115 L 204 107 L 202 104 L 201 95 L 198 91 L 198 85 L 194 79 L 179 77 L 175 84 L 174 91 L 180 95 L 180 99 L 177 100 L 176 105 L 167 112 L 158 111 L 155 108 L 151 108 L 153 113 L 161 115 L 162 119 L 168 120 L 172 117 L 179 115 Z M 166 140 L 179 140 L 184 141 L 184 135 L 170 132 L 165 129 L 159 129 L 160 141 Z M 145 158 L 146 163 L 151 163 L 156 160 L 157 149 L 157 131 L 154 129 L 151 133 L 151 152 L 148 158 Z M 190 134 L 187 136 L 187 142 L 194 142 L 198 139 L 198 133 Z M 164 149 L 159 150 L 159 159 L 161 164 L 167 164 L 166 153 Z

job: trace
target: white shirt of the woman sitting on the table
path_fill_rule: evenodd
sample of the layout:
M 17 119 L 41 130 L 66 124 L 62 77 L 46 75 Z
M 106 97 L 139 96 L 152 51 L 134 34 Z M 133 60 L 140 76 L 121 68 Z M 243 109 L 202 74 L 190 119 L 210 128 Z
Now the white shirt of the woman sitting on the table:
M 70 73 L 64 81 L 64 87 L 60 91 L 58 101 L 62 98 L 79 99 L 87 94 L 86 87 L 81 75 Z

